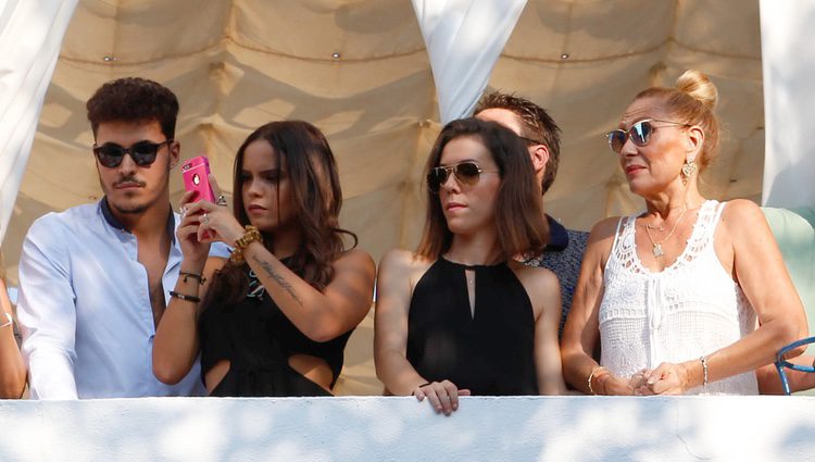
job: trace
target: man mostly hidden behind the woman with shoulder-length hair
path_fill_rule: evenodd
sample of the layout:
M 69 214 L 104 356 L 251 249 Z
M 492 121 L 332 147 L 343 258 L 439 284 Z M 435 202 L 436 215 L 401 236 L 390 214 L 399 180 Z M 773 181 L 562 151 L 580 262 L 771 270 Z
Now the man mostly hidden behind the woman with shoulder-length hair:
M 526 142 L 541 193 L 546 195 L 557 174 L 561 151 L 561 129 L 547 111 L 526 98 L 496 91 L 478 102 L 475 117 L 497 122 L 515 132 Z M 547 221 L 549 241 L 543 253 L 524 255 L 523 261 L 528 265 L 549 269 L 557 275 L 562 301 L 560 332 L 563 333 L 589 234 L 566 229 L 548 214 Z

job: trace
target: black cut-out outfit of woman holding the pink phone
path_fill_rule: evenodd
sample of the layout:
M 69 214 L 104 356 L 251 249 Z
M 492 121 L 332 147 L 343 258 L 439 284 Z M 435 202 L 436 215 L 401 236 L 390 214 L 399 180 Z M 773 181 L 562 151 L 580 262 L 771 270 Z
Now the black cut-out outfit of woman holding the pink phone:
M 198 320 L 201 378 L 218 361 L 230 362 L 229 372 L 212 396 L 330 396 L 289 366 L 288 359 L 309 354 L 326 361 L 334 374 L 334 387 L 353 329 L 326 342 L 311 340 L 275 304 L 254 272 L 244 269 L 249 278 L 247 296 L 231 304 L 213 299 Z

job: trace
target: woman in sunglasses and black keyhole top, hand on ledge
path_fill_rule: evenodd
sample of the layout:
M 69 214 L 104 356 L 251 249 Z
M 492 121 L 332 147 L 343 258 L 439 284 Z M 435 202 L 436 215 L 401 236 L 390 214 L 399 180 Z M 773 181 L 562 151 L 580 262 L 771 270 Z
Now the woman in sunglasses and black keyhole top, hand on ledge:
M 514 259 L 547 236 L 526 146 L 496 123 L 453 121 L 425 170 L 418 249 L 379 267 L 377 376 L 448 415 L 459 396 L 562 392 L 557 278 Z

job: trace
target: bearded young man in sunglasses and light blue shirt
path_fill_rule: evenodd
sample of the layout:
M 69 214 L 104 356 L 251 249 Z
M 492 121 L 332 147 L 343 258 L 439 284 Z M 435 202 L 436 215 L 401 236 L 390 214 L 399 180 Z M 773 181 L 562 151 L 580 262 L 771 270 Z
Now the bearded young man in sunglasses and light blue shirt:
M 198 367 L 166 386 L 151 364 L 181 261 L 168 189 L 178 101 L 154 82 L 122 78 L 87 110 L 104 197 L 42 216 L 23 244 L 18 319 L 32 397 L 201 395 Z

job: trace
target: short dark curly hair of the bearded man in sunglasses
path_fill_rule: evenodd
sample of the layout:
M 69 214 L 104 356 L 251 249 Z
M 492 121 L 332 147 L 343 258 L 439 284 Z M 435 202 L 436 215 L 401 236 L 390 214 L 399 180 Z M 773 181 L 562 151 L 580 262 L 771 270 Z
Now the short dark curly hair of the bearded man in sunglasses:
M 175 138 L 178 99 L 168 88 L 140 77 L 109 82 L 88 100 L 88 121 L 97 136 L 99 124 L 105 122 L 152 122 L 161 125 L 167 139 Z

